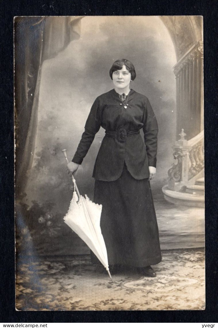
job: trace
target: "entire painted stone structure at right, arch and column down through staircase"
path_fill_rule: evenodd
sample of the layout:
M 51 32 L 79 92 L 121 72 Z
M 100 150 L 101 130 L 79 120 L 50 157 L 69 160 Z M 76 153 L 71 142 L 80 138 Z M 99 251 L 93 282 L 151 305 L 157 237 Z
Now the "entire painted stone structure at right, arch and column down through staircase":
M 204 90 L 203 17 L 162 16 L 174 43 L 176 76 L 177 138 L 163 187 L 166 200 L 188 206 L 204 206 Z M 178 140 L 176 138 L 176 140 Z M 187 140 L 188 141 L 187 141 Z

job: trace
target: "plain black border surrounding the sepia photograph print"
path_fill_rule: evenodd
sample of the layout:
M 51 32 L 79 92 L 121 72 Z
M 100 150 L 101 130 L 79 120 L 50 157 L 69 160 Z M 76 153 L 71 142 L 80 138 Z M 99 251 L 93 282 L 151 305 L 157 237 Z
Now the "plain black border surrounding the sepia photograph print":
M 202 322 L 218 320 L 218 110 L 217 1 L 24 0 L 1 1 L 0 46 L 0 321 L 1 322 Z M 206 310 L 16 311 L 14 284 L 13 17 L 45 15 L 202 15 L 204 17 Z M 200 327 L 200 326 L 199 326 Z

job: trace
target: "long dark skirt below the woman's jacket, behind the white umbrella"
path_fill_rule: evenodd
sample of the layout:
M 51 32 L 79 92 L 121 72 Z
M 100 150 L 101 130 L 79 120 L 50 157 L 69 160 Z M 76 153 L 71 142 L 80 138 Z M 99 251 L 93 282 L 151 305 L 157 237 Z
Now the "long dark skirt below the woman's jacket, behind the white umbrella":
M 94 202 L 102 204 L 100 226 L 109 265 L 144 267 L 161 261 L 148 179 L 134 179 L 124 165 L 118 180 L 95 181 Z M 97 263 L 94 254 L 92 261 Z

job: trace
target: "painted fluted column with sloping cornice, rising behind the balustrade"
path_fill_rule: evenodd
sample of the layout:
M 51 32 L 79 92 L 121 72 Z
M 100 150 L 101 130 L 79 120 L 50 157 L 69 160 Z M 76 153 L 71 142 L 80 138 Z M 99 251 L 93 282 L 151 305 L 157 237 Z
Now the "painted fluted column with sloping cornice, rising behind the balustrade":
M 177 135 L 184 128 L 187 139 L 204 129 L 203 43 L 199 41 L 174 66 L 176 75 Z

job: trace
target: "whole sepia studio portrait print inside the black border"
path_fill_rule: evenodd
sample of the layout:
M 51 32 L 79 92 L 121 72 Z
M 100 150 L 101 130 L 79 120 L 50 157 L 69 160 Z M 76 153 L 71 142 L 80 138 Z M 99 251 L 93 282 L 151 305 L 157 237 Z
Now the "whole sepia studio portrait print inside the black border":
M 202 16 L 14 17 L 18 311 L 204 310 Z

